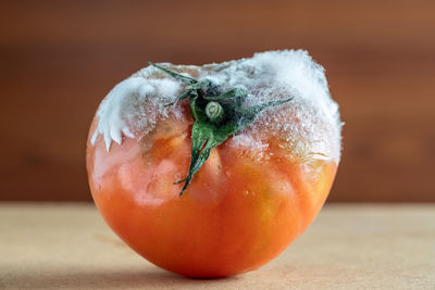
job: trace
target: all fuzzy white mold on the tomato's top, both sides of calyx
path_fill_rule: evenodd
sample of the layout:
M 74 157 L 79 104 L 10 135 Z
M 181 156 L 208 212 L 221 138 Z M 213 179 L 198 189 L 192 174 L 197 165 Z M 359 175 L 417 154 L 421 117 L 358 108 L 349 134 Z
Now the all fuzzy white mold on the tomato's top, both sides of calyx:
M 249 91 L 249 105 L 294 98 L 289 103 L 262 112 L 252 130 L 239 134 L 229 140 L 229 146 L 265 150 L 268 144 L 261 140 L 273 134 L 285 139 L 297 155 L 300 152 L 303 156 L 339 161 L 338 105 L 330 96 L 323 67 L 307 51 L 268 51 L 250 59 L 201 67 L 167 65 L 172 70 L 189 68 L 198 73 L 198 79 L 210 78 L 224 88 L 245 87 Z M 179 106 L 164 108 L 163 104 L 174 100 L 182 87 L 171 77 L 162 76 L 148 66 L 115 86 L 97 112 L 99 123 L 91 143 L 102 134 L 109 150 L 112 140 L 121 143 L 122 135 L 146 135 L 154 128 L 158 118 L 179 114 Z M 257 130 L 260 127 L 262 130 Z

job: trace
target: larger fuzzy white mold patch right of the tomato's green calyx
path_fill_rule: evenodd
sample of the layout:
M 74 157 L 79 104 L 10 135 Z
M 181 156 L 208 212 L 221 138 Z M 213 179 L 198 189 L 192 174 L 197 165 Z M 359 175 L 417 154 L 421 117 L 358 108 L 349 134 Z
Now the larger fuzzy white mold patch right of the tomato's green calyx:
M 229 146 L 247 143 L 247 149 L 262 150 L 265 147 L 261 140 L 273 134 L 285 139 L 295 157 L 339 161 L 341 122 L 338 105 L 330 96 L 323 67 L 307 51 L 261 52 L 251 59 L 210 64 L 206 68 L 202 78 L 211 78 L 228 88 L 245 86 L 250 104 L 294 98 L 260 114 L 252 127 L 256 138 L 250 136 L 252 134 L 241 133 L 229 141 Z M 241 138 L 247 142 L 240 142 Z

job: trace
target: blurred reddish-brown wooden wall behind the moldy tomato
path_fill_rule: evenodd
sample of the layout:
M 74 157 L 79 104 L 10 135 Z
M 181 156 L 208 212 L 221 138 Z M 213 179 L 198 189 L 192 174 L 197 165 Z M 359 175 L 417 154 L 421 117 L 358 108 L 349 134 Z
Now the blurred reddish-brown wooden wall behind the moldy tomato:
M 330 201 L 435 201 L 435 1 L 0 1 L 0 200 L 90 200 L 88 126 L 147 61 L 302 48 L 340 104 Z

